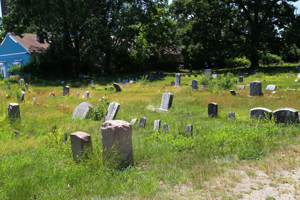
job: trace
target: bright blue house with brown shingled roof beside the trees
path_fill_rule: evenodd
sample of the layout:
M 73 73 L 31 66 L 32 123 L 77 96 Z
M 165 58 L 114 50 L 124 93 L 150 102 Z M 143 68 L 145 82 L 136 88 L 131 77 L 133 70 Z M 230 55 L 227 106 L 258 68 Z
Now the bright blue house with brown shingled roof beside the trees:
M 37 53 L 46 50 L 49 43 L 37 34 L 24 33 L 22 38 L 7 33 L 0 44 L 0 68 L 4 78 L 8 77 L 7 69 L 16 64 L 26 64 Z

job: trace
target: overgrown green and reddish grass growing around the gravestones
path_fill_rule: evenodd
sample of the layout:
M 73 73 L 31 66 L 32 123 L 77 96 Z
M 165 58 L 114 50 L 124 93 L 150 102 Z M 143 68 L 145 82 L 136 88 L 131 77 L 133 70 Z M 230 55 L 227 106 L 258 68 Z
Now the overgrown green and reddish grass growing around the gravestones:
M 94 78 L 94 90 L 85 80 L 25 80 L 31 92 L 26 92 L 26 101 L 19 103 L 21 120 L 12 124 L 7 118 L 7 105 L 17 102 L 18 79 L 1 81 L 0 199 L 241 198 L 243 193 L 235 192 L 234 188 L 241 181 L 237 171 L 243 167 L 265 171 L 274 166 L 287 170 L 299 167 L 298 125 L 249 119 L 250 109 L 255 107 L 273 111 L 287 107 L 300 111 L 299 91 L 287 91 L 300 88 L 300 83 L 295 82 L 294 68 L 265 68 L 264 74 L 249 76 L 238 83 L 246 85 L 244 90 L 235 89 L 236 85 L 229 89 L 219 88 L 222 80 L 214 79 L 216 85 L 209 85 L 208 91 L 205 88 L 193 91 L 189 84 L 193 79 L 200 82 L 203 75 L 199 72 L 195 72 L 197 78 L 193 75 L 181 77 L 182 87 L 170 86 L 176 73 L 155 75 L 153 72 L 154 81 L 149 82 L 149 86 L 139 85 L 139 82 L 124 84 L 121 92 L 106 91 L 104 87 L 109 88 L 119 77 L 140 79 L 142 73 L 99 75 Z M 290 73 L 289 78 L 286 78 L 285 69 Z M 246 72 L 246 69 L 238 70 Z M 237 73 L 238 70 L 217 72 Z M 270 76 L 269 73 L 283 75 Z M 157 80 L 158 76 L 161 80 Z M 101 79 L 103 77 L 105 79 Z M 262 82 L 263 95 L 247 97 L 247 85 L 254 80 Z M 269 84 L 277 85 L 276 94 L 265 91 Z M 70 86 L 69 97 L 61 97 L 64 85 Z M 232 96 L 230 89 L 240 93 Z M 168 112 L 156 112 L 164 90 L 174 94 L 172 107 Z M 82 98 L 84 91 L 90 92 L 85 100 Z M 55 97 L 48 97 L 50 92 L 55 93 Z M 77 92 L 79 98 L 75 98 Z M 39 106 L 30 102 L 33 97 Z M 99 101 L 101 97 L 105 100 Z M 94 112 L 82 121 L 71 119 L 74 108 L 83 101 L 93 105 L 98 114 Z M 135 164 L 132 167 L 118 169 L 103 163 L 101 124 L 108 107 L 105 101 L 121 105 L 116 119 L 130 122 L 132 118 L 147 118 L 146 128 L 139 129 L 138 123 L 133 125 Z M 211 102 L 218 104 L 216 118 L 208 118 L 208 103 Z M 228 122 L 229 112 L 236 115 L 232 122 Z M 100 116 L 99 121 L 95 120 L 95 115 Z M 155 120 L 167 123 L 169 133 L 155 132 Z M 185 137 L 187 124 L 193 124 L 192 137 Z M 56 127 L 55 132 L 52 132 L 53 127 Z M 21 133 L 14 133 L 15 129 Z M 90 134 L 93 145 L 88 157 L 79 163 L 73 160 L 70 140 L 65 144 L 61 142 L 63 133 L 76 131 Z M 282 154 L 286 156 L 280 157 Z

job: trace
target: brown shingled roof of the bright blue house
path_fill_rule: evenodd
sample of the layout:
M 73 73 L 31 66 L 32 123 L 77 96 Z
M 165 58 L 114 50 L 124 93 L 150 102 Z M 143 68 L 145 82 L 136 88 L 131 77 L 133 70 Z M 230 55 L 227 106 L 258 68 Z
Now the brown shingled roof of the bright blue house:
M 9 33 L 14 39 L 16 39 L 21 45 L 23 45 L 30 53 L 41 53 L 44 52 L 49 43 L 39 43 L 37 40 L 37 35 L 35 33 L 23 33 L 22 38 Z

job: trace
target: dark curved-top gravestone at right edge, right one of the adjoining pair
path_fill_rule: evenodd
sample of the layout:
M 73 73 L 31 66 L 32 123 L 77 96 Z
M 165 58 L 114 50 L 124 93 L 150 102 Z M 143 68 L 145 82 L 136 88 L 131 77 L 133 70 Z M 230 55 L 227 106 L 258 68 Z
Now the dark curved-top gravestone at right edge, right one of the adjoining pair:
M 292 108 L 280 108 L 273 111 L 275 124 L 299 124 L 298 111 Z

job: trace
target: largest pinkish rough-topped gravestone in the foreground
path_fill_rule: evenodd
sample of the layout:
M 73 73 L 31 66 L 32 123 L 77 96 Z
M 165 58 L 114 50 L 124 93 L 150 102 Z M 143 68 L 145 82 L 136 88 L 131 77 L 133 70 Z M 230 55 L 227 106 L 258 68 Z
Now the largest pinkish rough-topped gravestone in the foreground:
M 124 120 L 110 120 L 101 124 L 102 151 L 106 161 L 119 166 L 134 164 L 132 125 Z

